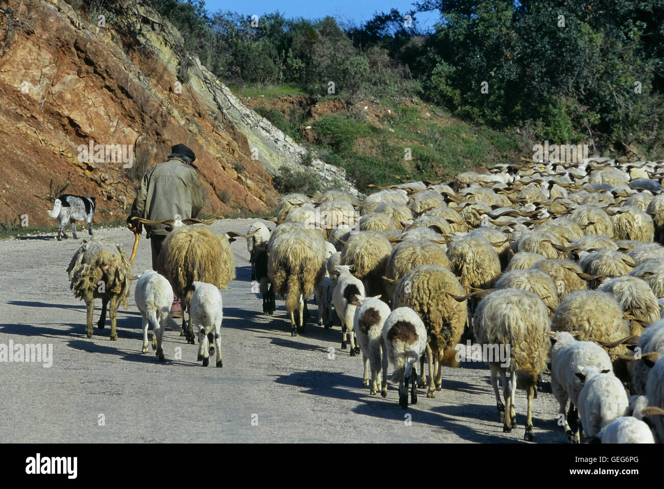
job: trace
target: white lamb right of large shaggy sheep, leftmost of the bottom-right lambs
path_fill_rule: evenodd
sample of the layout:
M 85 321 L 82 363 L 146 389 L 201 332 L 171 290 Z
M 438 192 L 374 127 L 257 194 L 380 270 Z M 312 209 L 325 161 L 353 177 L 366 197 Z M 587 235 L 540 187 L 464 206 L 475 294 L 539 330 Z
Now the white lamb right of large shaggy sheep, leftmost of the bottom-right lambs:
M 611 359 L 601 346 L 593 342 L 578 342 L 568 332 L 556 332 L 552 337 L 555 343 L 551 349 L 551 390 L 560 405 L 558 419 L 564 417 L 568 440 L 578 443 L 576 408 L 583 387 L 576 375 L 578 367 L 595 365 L 600 370 L 612 371 Z M 570 409 L 565 415 L 567 399 L 570 400 Z

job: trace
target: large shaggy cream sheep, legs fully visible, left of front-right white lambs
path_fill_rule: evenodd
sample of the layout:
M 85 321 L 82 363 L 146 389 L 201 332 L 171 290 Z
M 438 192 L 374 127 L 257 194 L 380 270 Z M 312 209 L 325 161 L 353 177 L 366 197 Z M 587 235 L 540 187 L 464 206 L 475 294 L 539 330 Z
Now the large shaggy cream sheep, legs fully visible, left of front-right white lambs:
M 509 348 L 507 364 L 495 358 L 487 359 L 491 369 L 491 385 L 506 433 L 517 425 L 515 391 L 517 387 L 527 391 L 524 435 L 527 441 L 533 441 L 533 396 L 537 377 L 546 367 L 550 347 L 546 333 L 549 329 L 550 320 L 544 302 L 529 290 L 506 288 L 491 292 L 479 303 L 473 316 L 477 343 L 505 351 Z M 505 405 L 498 393 L 498 375 L 503 381 Z

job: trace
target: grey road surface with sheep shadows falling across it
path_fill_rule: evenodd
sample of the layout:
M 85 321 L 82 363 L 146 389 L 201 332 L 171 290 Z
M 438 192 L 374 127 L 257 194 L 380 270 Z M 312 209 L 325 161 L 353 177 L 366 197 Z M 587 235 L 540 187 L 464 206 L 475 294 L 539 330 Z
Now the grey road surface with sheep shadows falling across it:
M 218 221 L 213 229 L 246 233 L 250 222 Z M 133 244 L 127 229 L 96 229 L 94 238 L 120 243 L 127 254 Z M 291 338 L 282 300 L 274 316 L 262 314 L 243 239 L 232 243 L 237 276 L 223 291 L 223 368 L 214 361 L 204 368 L 198 345 L 170 330 L 165 363 L 151 349 L 141 353 L 133 287 L 118 312 L 118 341 L 109 340 L 108 320 L 96 328 L 100 300 L 88 340 L 85 305 L 65 272 L 80 243 L 54 235 L 0 241 L 0 343 L 52 344 L 50 367 L 0 362 L 0 442 L 525 443 L 525 392 L 517 391 L 517 429 L 503 433 L 484 363 L 445 367 L 436 399 L 419 389 L 408 411 L 392 383 L 386 399 L 369 395 L 361 356 L 339 349 L 339 326 L 325 330 L 311 318 L 306 333 Z M 133 270 L 149 266 L 149 241 L 141 239 Z M 535 442 L 566 442 L 548 377 L 542 387 L 533 401 Z

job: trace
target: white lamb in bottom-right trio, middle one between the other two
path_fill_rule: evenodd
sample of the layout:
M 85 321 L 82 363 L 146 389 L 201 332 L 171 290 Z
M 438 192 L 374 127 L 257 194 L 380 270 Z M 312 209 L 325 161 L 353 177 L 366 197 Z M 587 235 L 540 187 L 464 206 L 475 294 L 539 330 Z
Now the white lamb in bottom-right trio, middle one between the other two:
M 600 370 L 595 365 L 579 369 L 576 375 L 584 386 L 579 393 L 578 410 L 584 442 L 590 442 L 602 428 L 627 413 L 629 400 L 622 382 L 610 370 Z

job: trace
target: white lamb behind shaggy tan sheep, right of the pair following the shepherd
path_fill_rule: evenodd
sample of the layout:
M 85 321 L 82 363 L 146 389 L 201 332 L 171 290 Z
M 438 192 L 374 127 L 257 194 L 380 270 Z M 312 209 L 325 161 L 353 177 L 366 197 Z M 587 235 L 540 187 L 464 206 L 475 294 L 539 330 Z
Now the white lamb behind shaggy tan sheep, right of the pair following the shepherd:
M 203 360 L 203 367 L 207 367 L 210 355 L 214 354 L 216 346 L 216 366 L 223 367 L 221 362 L 221 322 L 224 318 L 221 292 L 212 284 L 193 282 L 193 295 L 191 296 L 191 328 L 199 328 L 199 356 Z M 212 334 L 214 328 L 214 334 Z M 209 349 L 208 349 L 209 346 Z

